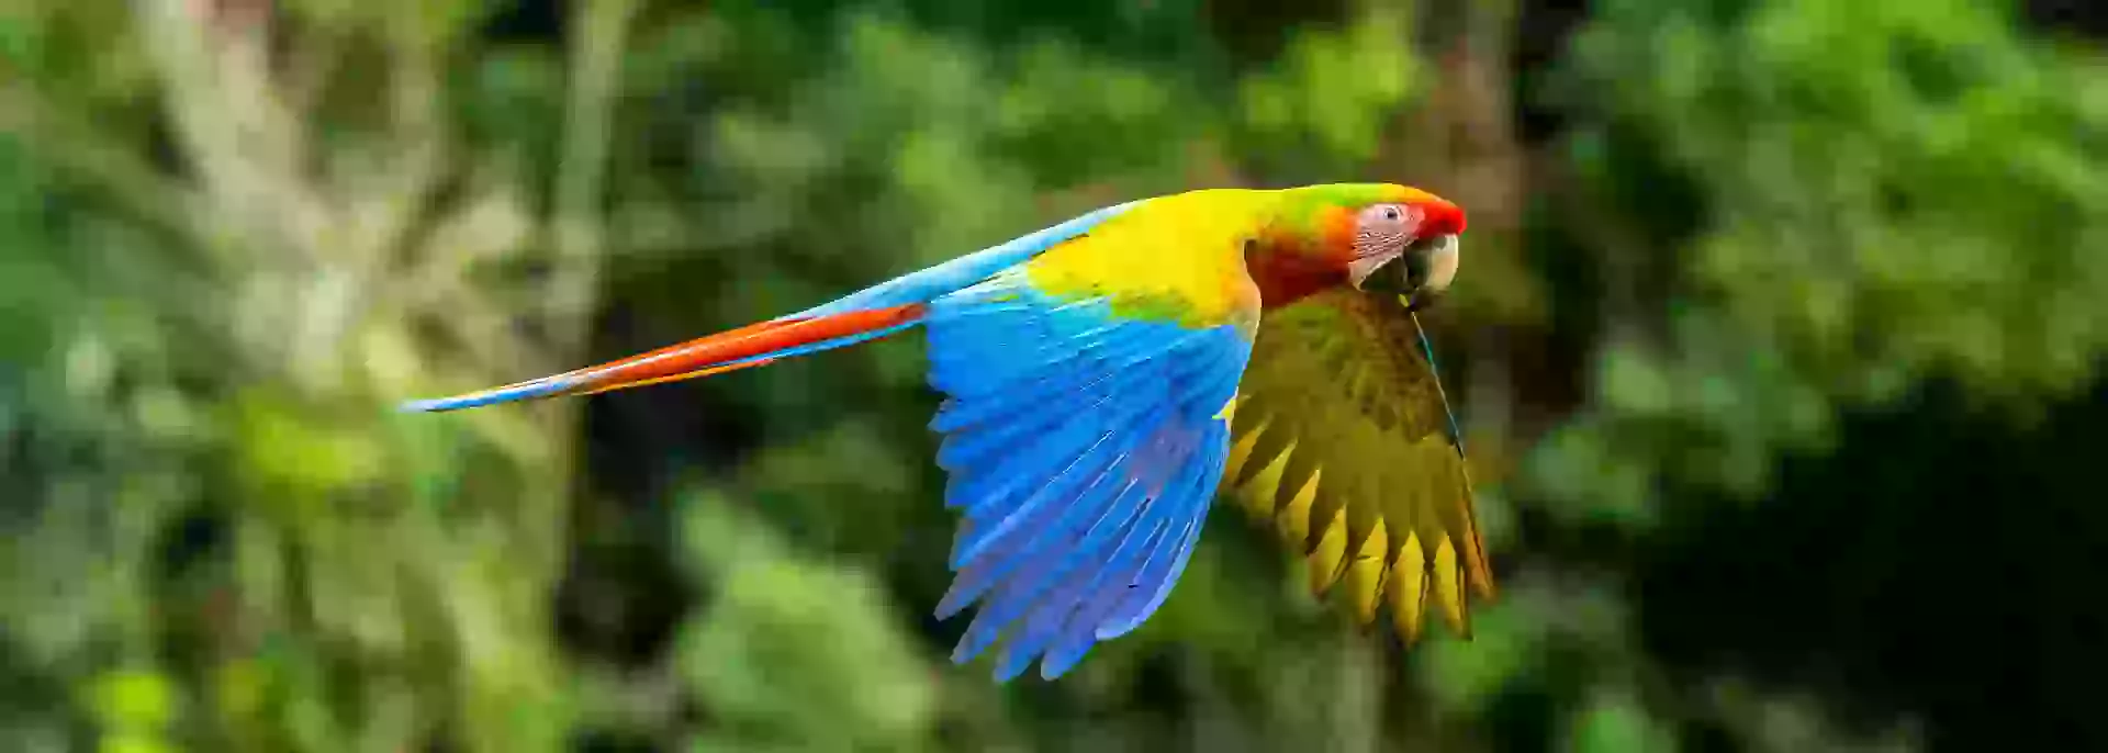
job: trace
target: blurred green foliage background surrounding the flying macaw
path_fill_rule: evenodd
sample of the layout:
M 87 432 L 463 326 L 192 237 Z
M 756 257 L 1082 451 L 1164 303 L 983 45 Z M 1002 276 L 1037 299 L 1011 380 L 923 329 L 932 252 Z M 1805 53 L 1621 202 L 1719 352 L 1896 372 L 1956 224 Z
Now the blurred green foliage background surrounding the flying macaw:
M 8 0 L 0 749 L 2108 749 L 2108 13 L 1990 0 Z M 1233 508 L 953 667 L 917 337 L 398 416 L 1092 207 L 1387 179 L 1501 584 Z

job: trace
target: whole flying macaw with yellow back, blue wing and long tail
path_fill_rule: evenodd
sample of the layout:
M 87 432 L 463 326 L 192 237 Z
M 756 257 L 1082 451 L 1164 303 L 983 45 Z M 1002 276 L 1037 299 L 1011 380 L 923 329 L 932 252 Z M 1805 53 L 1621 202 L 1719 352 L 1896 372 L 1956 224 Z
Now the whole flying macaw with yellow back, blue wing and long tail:
M 936 607 L 953 650 L 1060 677 L 1178 582 L 1216 491 L 1421 635 L 1469 637 L 1492 574 L 1457 422 L 1414 312 L 1455 281 L 1465 213 L 1425 190 L 1195 190 L 1098 209 L 831 304 L 409 411 L 748 369 L 915 327 L 961 515 Z M 1414 342 L 1414 335 L 1417 342 Z

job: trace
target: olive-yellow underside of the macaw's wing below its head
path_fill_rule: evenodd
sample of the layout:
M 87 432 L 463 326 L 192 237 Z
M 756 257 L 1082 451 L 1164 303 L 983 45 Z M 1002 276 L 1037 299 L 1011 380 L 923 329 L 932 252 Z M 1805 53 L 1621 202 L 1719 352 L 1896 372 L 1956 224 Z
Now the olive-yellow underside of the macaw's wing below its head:
M 1223 475 L 1225 491 L 1305 555 L 1311 591 L 1345 582 L 1364 624 L 1387 603 L 1406 643 L 1427 601 L 1469 637 L 1467 593 L 1495 591 L 1417 327 L 1400 300 L 1345 289 L 1267 312 Z

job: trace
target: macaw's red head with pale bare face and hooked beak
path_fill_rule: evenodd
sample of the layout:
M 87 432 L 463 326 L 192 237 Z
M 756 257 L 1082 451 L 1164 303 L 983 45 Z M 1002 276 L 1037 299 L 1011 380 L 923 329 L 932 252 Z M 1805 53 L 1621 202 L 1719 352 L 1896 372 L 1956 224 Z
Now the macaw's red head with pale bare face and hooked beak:
M 1404 186 L 1383 186 L 1383 194 L 1351 209 L 1347 283 L 1398 295 L 1408 310 L 1433 306 L 1457 281 L 1463 209 Z

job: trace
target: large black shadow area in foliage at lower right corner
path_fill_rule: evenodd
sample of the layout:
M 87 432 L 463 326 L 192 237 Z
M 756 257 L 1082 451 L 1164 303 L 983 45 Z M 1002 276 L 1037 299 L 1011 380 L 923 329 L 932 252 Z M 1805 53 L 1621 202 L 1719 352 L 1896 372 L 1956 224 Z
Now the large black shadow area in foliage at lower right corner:
M 1950 751 L 2108 749 L 2108 506 L 2095 468 L 2108 384 L 2041 426 L 1971 411 L 1935 384 L 1851 416 L 1828 458 L 1777 491 L 1684 504 L 1638 572 L 1642 635 L 1684 679 L 1826 688 Z

